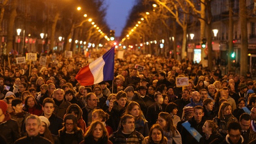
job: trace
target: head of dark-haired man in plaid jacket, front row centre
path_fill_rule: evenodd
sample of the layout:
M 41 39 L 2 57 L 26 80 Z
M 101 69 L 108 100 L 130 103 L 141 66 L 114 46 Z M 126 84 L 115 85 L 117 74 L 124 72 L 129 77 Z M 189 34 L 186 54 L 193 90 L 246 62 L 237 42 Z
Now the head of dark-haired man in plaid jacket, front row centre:
M 124 133 L 130 134 L 135 130 L 135 119 L 132 115 L 126 114 L 121 117 L 121 130 Z

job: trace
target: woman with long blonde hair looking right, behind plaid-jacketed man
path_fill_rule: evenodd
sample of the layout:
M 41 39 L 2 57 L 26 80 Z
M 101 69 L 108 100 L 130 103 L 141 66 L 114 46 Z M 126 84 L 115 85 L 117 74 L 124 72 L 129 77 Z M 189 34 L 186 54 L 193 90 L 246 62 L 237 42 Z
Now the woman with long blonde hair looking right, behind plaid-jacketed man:
M 144 137 L 148 136 L 148 124 L 142 113 L 139 103 L 131 102 L 128 104 L 126 111 L 123 115 L 130 114 L 135 119 L 135 130 L 141 133 Z

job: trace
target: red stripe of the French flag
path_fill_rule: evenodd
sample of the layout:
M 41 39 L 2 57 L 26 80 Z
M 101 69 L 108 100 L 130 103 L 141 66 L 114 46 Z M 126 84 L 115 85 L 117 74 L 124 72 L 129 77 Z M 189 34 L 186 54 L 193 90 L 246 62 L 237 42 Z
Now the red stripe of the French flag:
M 76 80 L 83 86 L 93 85 L 94 77 L 90 71 L 89 65 L 80 69 L 76 75 Z

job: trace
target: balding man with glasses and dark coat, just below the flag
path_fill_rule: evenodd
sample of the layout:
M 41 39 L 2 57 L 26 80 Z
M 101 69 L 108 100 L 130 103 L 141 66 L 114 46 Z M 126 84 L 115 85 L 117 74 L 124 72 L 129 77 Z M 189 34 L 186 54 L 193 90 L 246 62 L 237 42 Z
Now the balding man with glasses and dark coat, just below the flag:
M 94 93 L 88 93 L 86 96 L 85 107 L 82 108 L 82 119 L 85 121 L 87 126 L 91 125 L 92 112 L 97 108 L 99 99 Z

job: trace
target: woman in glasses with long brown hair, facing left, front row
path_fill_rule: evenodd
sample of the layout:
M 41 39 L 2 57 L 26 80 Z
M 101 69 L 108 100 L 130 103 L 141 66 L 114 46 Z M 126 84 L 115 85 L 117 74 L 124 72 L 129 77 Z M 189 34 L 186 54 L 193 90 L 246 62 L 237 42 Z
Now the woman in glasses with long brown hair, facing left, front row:
M 168 144 L 182 144 L 181 135 L 176 130 L 172 117 L 167 112 L 160 112 L 157 119 L 159 124 L 164 130 L 164 136 L 168 139 Z

